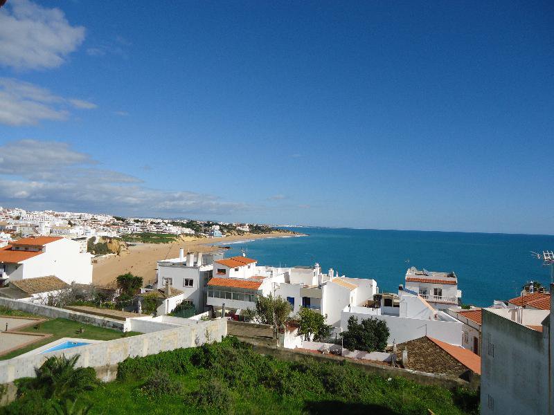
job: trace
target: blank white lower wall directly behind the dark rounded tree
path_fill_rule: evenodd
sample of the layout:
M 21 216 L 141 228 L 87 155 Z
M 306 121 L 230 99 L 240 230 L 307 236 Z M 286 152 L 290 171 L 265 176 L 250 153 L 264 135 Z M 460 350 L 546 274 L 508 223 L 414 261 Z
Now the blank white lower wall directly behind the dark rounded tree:
M 351 315 L 357 317 L 358 321 L 369 317 L 377 318 L 386 322 L 390 334 L 388 344 L 393 341 L 398 343 L 407 342 L 428 335 L 429 337 L 442 340 L 450 344 L 462 343 L 463 323 L 458 321 L 423 320 L 417 318 L 396 317 L 394 315 L 371 315 L 367 311 L 370 308 L 352 307 L 349 311 L 341 313 L 341 327 L 343 331 L 348 329 L 348 319 Z M 454 320 L 454 318 L 452 318 Z

